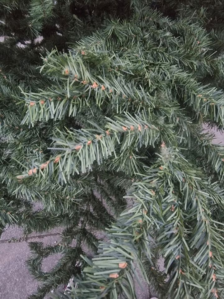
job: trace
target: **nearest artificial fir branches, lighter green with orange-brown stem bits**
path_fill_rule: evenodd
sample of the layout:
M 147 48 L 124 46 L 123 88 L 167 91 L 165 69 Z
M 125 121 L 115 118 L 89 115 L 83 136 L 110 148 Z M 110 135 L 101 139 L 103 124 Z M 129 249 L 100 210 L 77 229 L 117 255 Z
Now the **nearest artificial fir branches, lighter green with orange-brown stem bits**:
M 140 257 L 163 297 L 222 297 L 224 152 L 201 124 L 223 128 L 223 93 L 201 82 L 222 80 L 223 57 L 199 24 L 162 18 L 142 2 L 133 7 L 130 21 L 111 21 L 69 54 L 45 58 L 42 72 L 57 84 L 24 93 L 23 123 L 66 116 L 80 127 L 57 128 L 49 163 L 20 174 L 21 190 L 92 171 L 97 181 L 104 174 L 111 186 L 130 186 L 131 207 L 99 254 L 84 258 L 89 266 L 83 278 L 74 273 L 69 298 L 134 298 Z M 169 276 L 156 269 L 160 255 Z

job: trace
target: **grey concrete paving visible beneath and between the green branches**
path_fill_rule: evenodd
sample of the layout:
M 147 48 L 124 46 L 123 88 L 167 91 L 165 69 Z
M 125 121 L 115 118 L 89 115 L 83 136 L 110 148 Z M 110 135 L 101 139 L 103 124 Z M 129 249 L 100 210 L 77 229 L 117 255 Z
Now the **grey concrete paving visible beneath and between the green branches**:
M 205 130 L 207 128 L 205 127 Z M 214 143 L 224 145 L 224 135 L 215 129 L 210 130 L 216 135 Z M 44 244 L 58 242 L 62 229 L 54 229 L 45 234 L 31 234 L 27 240 L 11 242 L 11 238 L 22 237 L 22 230 L 18 227 L 8 228 L 0 238 L 0 299 L 26 299 L 35 292 L 38 283 L 33 280 L 25 261 L 30 255 L 28 242 L 41 241 Z M 57 262 L 59 256 L 55 255 L 44 260 L 43 270 L 48 271 Z M 138 299 L 149 299 L 146 285 L 137 289 Z M 47 296 L 45 299 L 48 299 Z

